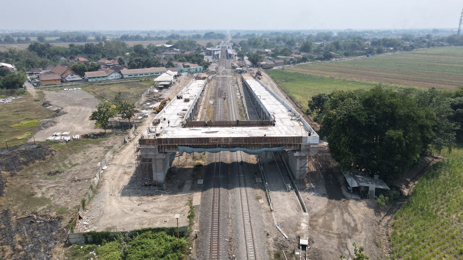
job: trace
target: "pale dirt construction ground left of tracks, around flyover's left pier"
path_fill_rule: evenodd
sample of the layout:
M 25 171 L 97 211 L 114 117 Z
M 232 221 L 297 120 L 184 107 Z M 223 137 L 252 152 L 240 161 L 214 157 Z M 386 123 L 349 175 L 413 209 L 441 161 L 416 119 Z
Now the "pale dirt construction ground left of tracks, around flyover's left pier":
M 179 77 L 177 80 L 174 86 L 160 91 L 163 98 L 173 99 L 192 77 Z M 137 132 L 143 132 L 154 116 L 151 113 L 138 126 Z M 179 225 L 188 225 L 188 200 L 193 199 L 196 184 L 191 180 L 187 184 L 186 180 L 191 177 L 193 161 L 187 155 L 171 158 L 174 161 L 173 166 L 177 166 L 179 170 L 176 175 L 167 176 L 165 192 L 156 191 L 156 186 L 153 185 L 138 185 L 137 178 L 141 173 L 136 171 L 133 146 L 138 137 L 136 134 L 130 143 L 113 155 L 113 160 L 102 174 L 97 194 L 91 200 L 89 210 L 85 212 L 76 231 L 173 227 L 177 224 L 174 218 L 176 213 L 181 214 Z M 179 161 L 183 161 L 181 165 Z

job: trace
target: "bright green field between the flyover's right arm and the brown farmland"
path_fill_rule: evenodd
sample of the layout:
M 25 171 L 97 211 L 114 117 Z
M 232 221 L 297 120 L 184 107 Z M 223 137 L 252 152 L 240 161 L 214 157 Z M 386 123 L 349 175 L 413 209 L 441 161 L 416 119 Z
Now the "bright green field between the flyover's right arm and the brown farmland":
M 375 87 L 375 83 L 373 82 L 317 77 L 289 69 L 270 69 L 266 73 L 276 80 L 303 109 L 307 109 L 309 99 L 320 92 L 331 93 L 333 90 L 355 90 Z

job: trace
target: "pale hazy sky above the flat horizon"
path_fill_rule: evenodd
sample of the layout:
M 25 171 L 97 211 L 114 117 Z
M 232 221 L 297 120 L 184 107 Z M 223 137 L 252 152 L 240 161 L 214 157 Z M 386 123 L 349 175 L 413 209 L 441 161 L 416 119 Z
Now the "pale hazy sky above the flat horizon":
M 462 0 L 2 0 L 0 30 L 457 28 Z

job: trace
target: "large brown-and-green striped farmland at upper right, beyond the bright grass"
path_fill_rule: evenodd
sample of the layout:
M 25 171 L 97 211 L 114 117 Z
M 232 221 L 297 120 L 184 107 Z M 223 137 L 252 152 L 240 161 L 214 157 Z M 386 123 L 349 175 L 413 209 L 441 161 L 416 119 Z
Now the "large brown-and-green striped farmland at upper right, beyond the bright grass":
M 454 89 L 463 83 L 463 47 L 442 47 L 345 61 L 317 62 L 291 70 L 414 87 Z

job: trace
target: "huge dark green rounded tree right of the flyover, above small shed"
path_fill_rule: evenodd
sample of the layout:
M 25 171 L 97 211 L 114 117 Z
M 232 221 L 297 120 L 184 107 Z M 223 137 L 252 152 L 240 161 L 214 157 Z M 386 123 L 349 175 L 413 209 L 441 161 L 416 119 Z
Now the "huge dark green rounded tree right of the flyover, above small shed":
M 322 118 L 339 166 L 394 178 L 406 172 L 432 143 L 435 114 L 408 95 L 375 87 L 362 93 L 334 91 Z

